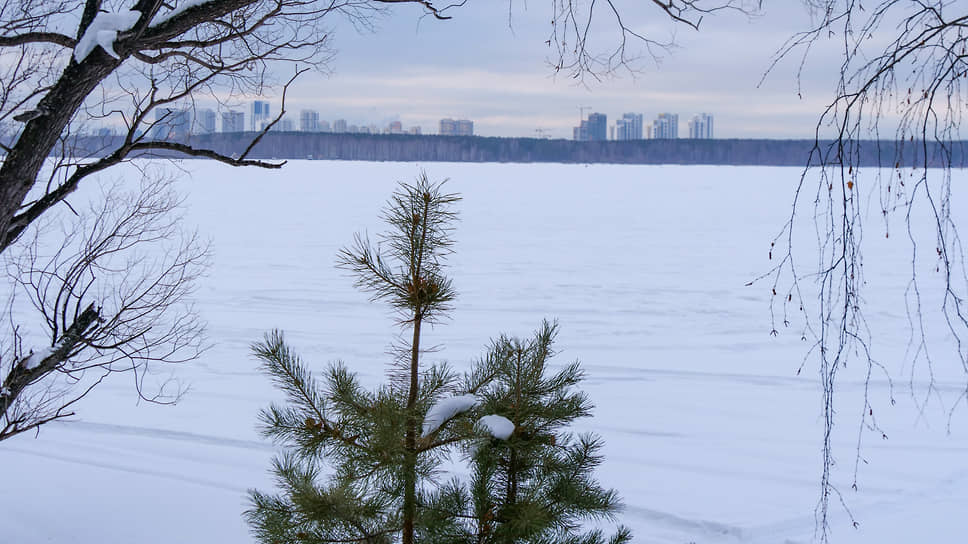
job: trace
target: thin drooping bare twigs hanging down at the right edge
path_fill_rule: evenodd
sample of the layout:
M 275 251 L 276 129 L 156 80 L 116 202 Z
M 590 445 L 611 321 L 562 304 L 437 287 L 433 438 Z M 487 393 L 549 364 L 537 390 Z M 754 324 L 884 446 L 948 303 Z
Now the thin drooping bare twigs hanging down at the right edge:
M 831 38 L 840 43 L 841 65 L 834 99 L 815 128 L 815 145 L 794 194 L 790 218 L 771 245 L 771 257 L 778 257 L 770 274 L 771 311 L 775 320 L 777 314 L 783 316 L 784 325 L 789 324 L 790 313 L 801 314 L 801 334 L 813 342 L 808 357 L 817 362 L 825 424 L 817 525 L 826 542 L 831 499 L 850 515 L 832 472 L 833 431 L 840 420 L 837 408 L 845 402 L 837 397 L 838 376 L 854 365 L 863 370 L 854 486 L 862 439 L 870 434 L 886 437 L 875 419 L 875 404 L 895 402 L 895 376 L 873 355 L 874 331 L 865 317 L 866 277 L 871 274 L 863 258 L 870 243 L 864 236 L 864 227 L 871 226 L 868 206 L 879 212 L 884 238 L 898 239 L 891 236 L 895 220 L 902 222 L 904 236 L 894 243 L 907 238 L 911 272 L 903 303 L 911 337 L 905 360 L 896 362 L 911 369 L 908 387 L 915 405 L 923 412 L 932 399 L 947 404 L 935 383 L 938 361 L 932 355 L 935 350 L 926 327 L 929 313 L 944 320 L 951 339 L 947 347 L 953 352 L 956 369 L 965 377 L 961 394 L 944 408 L 949 418 L 955 407 L 968 400 L 968 353 L 964 349 L 968 341 L 968 267 L 951 214 L 950 177 L 952 168 L 965 166 L 954 163 L 954 151 L 963 145 L 961 123 L 968 99 L 964 83 L 968 76 L 968 13 L 959 3 L 941 0 L 880 0 L 864 7 L 853 0 L 805 3 L 814 10 L 817 23 L 791 37 L 777 51 L 770 70 L 789 57 L 798 57 L 802 71 L 811 47 Z M 875 36 L 889 39 L 872 39 Z M 885 135 L 894 143 L 882 148 Z M 878 146 L 878 155 L 893 169 L 861 174 L 861 150 L 871 145 Z M 925 210 L 927 220 L 915 219 L 915 209 Z M 802 222 L 813 223 L 815 248 L 798 246 L 795 231 Z M 925 251 L 925 243 L 933 247 Z M 801 264 L 810 262 L 803 258 L 810 251 L 819 257 L 816 266 Z M 927 266 L 938 276 L 924 277 L 919 270 Z M 923 291 L 928 285 L 941 294 L 940 307 L 925 306 Z M 773 328 L 780 327 L 775 324 Z M 874 376 L 888 382 L 887 399 L 871 394 Z

